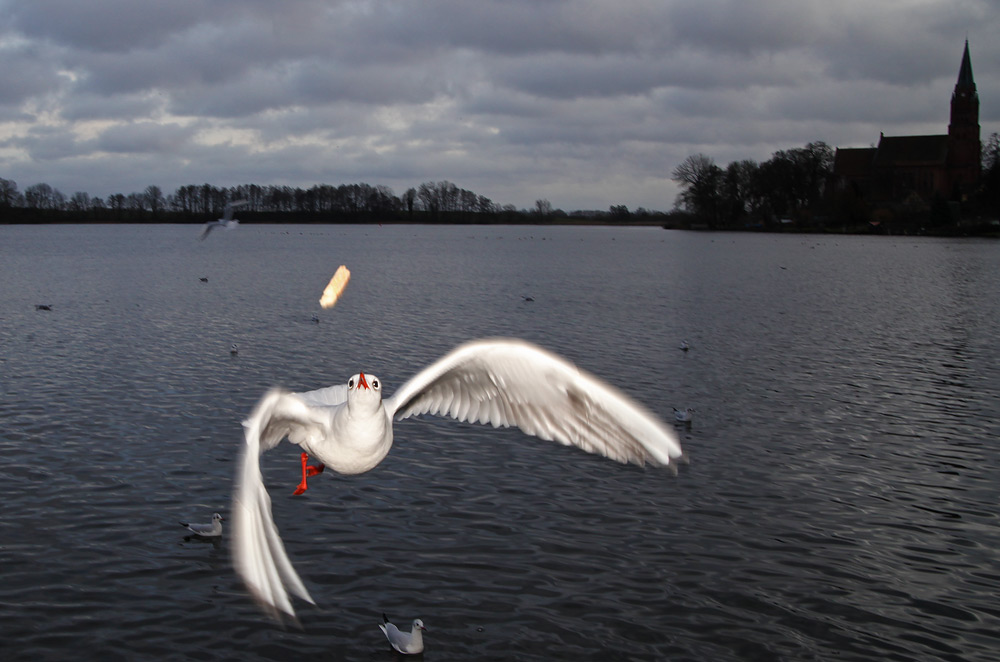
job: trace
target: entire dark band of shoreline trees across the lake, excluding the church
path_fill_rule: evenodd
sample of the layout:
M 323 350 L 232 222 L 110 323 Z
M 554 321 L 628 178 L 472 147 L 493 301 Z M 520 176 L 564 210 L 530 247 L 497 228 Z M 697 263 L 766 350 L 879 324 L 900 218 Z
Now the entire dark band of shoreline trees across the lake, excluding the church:
M 308 189 L 247 184 L 181 186 L 165 194 L 107 198 L 78 191 L 67 197 L 45 183 L 20 190 L 0 178 L 0 224 L 204 223 L 227 203 L 241 223 L 454 223 L 654 225 L 671 229 L 1000 236 L 1000 137 L 982 146 L 980 181 L 961 200 L 875 203 L 833 185 L 833 150 L 823 142 L 775 152 L 768 161 L 734 161 L 725 168 L 708 156 L 689 156 L 671 173 L 681 187 L 674 209 L 564 211 L 548 200 L 531 209 L 498 204 L 449 181 L 425 182 L 396 195 L 387 186 L 319 184 Z

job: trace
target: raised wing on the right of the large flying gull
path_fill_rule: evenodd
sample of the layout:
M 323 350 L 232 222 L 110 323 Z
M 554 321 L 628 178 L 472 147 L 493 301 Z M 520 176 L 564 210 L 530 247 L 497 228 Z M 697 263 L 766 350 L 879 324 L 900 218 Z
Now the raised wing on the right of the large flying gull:
M 385 401 L 402 420 L 420 414 L 516 426 L 622 463 L 669 465 L 676 434 L 631 397 L 565 359 L 516 339 L 466 343 Z

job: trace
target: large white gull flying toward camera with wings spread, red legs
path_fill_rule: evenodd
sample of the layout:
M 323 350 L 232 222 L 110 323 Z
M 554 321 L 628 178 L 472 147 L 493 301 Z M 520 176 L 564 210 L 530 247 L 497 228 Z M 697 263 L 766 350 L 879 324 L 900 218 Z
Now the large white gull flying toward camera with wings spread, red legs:
M 629 373 L 623 373 L 628 378 Z M 382 381 L 364 372 L 346 384 L 304 393 L 268 391 L 243 422 L 246 445 L 233 494 L 233 562 L 272 616 L 292 618 L 288 591 L 315 604 L 285 552 L 271 514 L 260 456 L 287 438 L 298 445 L 302 481 L 326 466 L 369 471 L 392 446 L 393 422 L 420 414 L 517 426 L 621 463 L 668 466 L 681 457 L 677 435 L 645 407 L 565 359 L 523 340 L 461 345 L 383 399 Z M 308 456 L 321 464 L 308 466 Z

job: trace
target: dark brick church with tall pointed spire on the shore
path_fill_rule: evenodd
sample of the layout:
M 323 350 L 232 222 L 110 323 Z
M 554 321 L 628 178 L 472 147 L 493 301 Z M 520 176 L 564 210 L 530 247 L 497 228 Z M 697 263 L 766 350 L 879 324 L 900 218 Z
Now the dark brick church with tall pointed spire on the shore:
M 979 94 L 972 78 L 969 41 L 951 95 L 948 133 L 937 136 L 879 136 L 878 147 L 838 148 L 833 178 L 874 203 L 934 199 L 961 201 L 979 180 Z

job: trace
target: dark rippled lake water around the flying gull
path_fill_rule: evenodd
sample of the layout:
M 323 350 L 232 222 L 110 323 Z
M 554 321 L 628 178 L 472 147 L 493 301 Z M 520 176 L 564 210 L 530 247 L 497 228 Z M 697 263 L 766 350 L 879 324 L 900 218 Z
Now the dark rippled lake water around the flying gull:
M 428 660 L 1000 657 L 1000 243 L 198 230 L 0 226 L 0 658 L 391 660 L 382 612 L 424 620 Z M 185 539 L 228 515 L 267 388 L 392 393 L 496 335 L 693 407 L 690 464 L 409 420 L 375 470 L 293 497 L 282 444 L 301 629 L 257 609 L 228 535 Z

